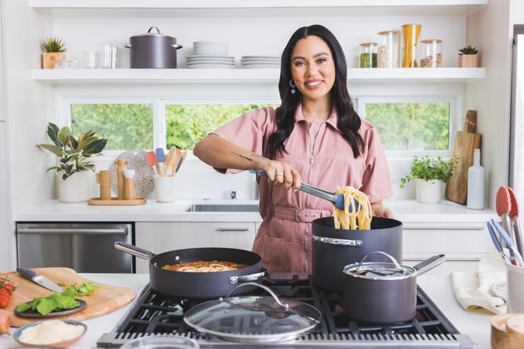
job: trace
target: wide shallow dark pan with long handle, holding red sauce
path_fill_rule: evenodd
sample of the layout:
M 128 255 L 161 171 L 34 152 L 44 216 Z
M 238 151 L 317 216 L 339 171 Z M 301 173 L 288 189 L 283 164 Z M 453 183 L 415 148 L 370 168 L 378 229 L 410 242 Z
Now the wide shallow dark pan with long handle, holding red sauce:
M 228 295 L 239 283 L 257 281 L 268 275 L 262 267 L 260 255 L 236 248 L 185 248 L 155 255 L 143 248 L 115 242 L 115 248 L 137 257 L 149 260 L 151 288 L 164 295 L 191 298 L 211 299 Z M 219 260 L 247 264 L 247 267 L 228 270 L 227 272 L 191 273 L 175 272 L 162 269 L 164 265 L 174 265 L 198 260 Z M 235 290 L 235 295 L 251 292 L 256 286 Z

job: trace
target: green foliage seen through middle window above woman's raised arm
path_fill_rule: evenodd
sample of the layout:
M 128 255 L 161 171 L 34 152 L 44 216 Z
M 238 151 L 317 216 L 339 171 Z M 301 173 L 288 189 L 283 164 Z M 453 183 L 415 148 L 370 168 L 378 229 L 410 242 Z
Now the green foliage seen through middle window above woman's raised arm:
M 193 149 L 196 142 L 219 126 L 249 110 L 267 106 L 278 107 L 268 104 L 167 105 L 167 148 Z

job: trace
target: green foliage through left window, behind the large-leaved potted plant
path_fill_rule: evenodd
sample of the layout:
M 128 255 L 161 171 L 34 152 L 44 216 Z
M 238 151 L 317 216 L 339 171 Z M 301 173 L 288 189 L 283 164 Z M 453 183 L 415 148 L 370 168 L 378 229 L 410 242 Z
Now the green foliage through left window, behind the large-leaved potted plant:
M 153 149 L 152 104 L 72 104 L 72 131 L 98 130 L 105 150 Z

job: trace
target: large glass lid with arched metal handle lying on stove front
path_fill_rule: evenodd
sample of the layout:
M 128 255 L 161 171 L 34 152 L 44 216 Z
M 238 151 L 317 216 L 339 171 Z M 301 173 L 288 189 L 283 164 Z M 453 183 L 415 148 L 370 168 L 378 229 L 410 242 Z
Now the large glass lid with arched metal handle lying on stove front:
M 271 342 L 295 339 L 321 321 L 321 313 L 310 304 L 282 299 L 258 283 L 271 296 L 244 295 L 214 299 L 198 304 L 184 315 L 184 322 L 199 332 L 226 341 Z M 230 292 L 230 294 L 231 294 Z

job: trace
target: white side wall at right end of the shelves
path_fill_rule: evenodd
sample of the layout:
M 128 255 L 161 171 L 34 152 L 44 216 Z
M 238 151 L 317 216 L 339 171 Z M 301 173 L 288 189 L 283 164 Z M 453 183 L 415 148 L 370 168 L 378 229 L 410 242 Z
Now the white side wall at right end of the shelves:
M 476 133 L 481 133 L 481 163 L 492 209 L 497 190 L 507 185 L 509 175 L 511 12 L 510 0 L 490 0 L 467 17 L 466 43 L 479 49 L 479 66 L 488 67 L 485 80 L 466 84 L 465 110 L 477 111 Z

